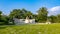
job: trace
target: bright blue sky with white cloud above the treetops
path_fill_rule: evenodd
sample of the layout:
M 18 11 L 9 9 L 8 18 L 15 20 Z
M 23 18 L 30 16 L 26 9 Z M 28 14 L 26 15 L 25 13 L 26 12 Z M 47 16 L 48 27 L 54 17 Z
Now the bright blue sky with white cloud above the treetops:
M 13 9 L 22 8 L 37 13 L 41 7 L 48 9 L 48 15 L 60 14 L 60 0 L 0 0 L 0 11 L 6 15 Z

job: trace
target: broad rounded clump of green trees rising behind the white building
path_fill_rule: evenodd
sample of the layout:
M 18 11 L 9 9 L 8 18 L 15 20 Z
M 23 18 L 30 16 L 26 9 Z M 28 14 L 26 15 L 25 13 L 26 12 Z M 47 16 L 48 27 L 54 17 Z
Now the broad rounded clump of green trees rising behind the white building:
M 18 19 L 25 19 L 27 16 L 31 16 L 32 13 L 30 11 L 27 11 L 25 9 L 14 9 L 11 13 L 10 13 L 10 18 L 18 18 Z

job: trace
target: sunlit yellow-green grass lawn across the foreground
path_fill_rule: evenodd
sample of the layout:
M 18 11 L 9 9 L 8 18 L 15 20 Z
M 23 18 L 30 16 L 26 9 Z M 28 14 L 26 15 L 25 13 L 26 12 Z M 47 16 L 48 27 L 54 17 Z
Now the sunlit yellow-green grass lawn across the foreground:
M 60 34 L 60 24 L 0 26 L 0 34 Z

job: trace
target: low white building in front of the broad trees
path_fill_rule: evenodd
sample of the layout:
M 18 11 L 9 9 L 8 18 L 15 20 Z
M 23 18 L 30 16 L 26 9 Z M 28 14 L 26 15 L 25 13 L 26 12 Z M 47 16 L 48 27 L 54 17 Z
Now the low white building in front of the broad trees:
M 28 17 L 26 17 L 26 19 L 17 19 L 17 18 L 14 18 L 14 23 L 16 25 L 19 25 L 19 24 L 29 24 L 29 23 L 32 23 L 34 24 L 35 23 L 35 19 L 29 19 Z

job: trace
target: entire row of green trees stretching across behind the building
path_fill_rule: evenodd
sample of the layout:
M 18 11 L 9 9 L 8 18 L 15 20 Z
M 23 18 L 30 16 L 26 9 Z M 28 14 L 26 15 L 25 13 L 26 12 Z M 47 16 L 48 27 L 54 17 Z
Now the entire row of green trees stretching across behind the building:
M 35 19 L 36 23 L 45 23 L 47 21 L 51 23 L 60 23 L 60 14 L 48 16 L 46 7 L 41 7 L 36 11 L 38 14 L 33 14 L 26 9 L 13 9 L 8 16 L 2 15 L 0 11 L 0 25 L 14 24 L 13 18 L 25 19 L 27 16 L 30 19 Z

